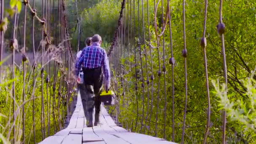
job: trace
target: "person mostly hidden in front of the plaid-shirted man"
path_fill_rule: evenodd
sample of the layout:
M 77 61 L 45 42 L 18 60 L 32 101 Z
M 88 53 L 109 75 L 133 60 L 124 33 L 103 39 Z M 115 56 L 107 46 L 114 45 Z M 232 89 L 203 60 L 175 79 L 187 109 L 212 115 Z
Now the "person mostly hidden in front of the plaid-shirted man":
M 91 37 L 87 37 L 85 40 L 85 48 L 91 45 Z M 79 60 L 81 53 L 83 50 L 79 51 L 77 53 L 77 59 L 76 61 Z M 83 104 L 83 110 L 84 110 L 84 114 L 85 114 L 85 118 L 86 118 L 86 123 L 88 123 L 88 112 L 87 112 L 87 108 L 86 108 L 86 93 L 85 93 L 85 84 L 83 83 L 83 70 L 82 68 L 80 69 L 80 73 L 77 79 L 77 86 L 78 86 L 78 91 L 80 92 L 80 96 L 82 99 L 82 104 Z

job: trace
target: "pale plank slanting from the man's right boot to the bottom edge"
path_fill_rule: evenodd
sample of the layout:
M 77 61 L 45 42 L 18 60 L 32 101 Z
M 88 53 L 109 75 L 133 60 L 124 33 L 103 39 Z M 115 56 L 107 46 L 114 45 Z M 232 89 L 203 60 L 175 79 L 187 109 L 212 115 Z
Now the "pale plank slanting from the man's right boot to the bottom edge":
M 113 136 L 111 133 L 106 133 L 102 128 L 100 128 L 99 126 L 97 127 L 93 127 L 93 131 L 94 133 L 96 133 L 99 137 L 101 137 L 102 139 L 104 139 L 104 141 L 107 144 L 129 144 L 129 142 L 124 141 L 123 139 L 120 139 L 116 136 Z M 115 130 L 112 129 L 112 132 L 114 132 Z

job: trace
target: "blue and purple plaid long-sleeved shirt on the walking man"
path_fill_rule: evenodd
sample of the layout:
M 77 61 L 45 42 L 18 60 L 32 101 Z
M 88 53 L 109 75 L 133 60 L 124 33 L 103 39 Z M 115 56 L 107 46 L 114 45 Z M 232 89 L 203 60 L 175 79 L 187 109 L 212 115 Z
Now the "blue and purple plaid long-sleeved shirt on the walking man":
M 102 67 L 103 75 L 105 77 L 106 84 L 110 82 L 110 69 L 109 60 L 106 51 L 100 47 L 99 43 L 93 43 L 92 45 L 85 47 L 80 55 L 80 58 L 75 64 L 76 75 L 78 76 L 81 67 L 93 69 Z

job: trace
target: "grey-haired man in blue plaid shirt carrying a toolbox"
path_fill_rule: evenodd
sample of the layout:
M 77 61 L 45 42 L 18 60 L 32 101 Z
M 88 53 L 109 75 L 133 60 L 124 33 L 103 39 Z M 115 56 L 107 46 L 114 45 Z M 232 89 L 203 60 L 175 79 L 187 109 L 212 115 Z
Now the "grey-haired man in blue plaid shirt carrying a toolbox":
M 94 125 L 98 125 L 101 105 L 99 95 L 102 90 L 102 85 L 104 83 L 105 91 L 108 91 L 110 86 L 109 60 L 106 51 L 100 47 L 101 42 L 101 37 L 98 34 L 94 35 L 92 37 L 92 45 L 83 49 L 80 59 L 78 59 L 75 64 L 77 76 L 81 67 L 84 74 L 86 107 L 89 119 L 87 127 L 93 126 L 93 106 L 95 107 Z

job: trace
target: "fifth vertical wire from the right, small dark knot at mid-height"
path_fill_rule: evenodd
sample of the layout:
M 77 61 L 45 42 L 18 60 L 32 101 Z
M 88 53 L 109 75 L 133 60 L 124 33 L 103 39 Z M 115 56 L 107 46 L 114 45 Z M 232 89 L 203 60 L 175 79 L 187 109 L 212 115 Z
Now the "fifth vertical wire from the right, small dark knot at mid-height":
M 161 76 L 161 66 L 160 66 L 160 53 L 159 53 L 159 39 L 157 36 L 157 21 L 156 21 L 156 16 L 157 16 L 157 6 L 160 3 L 160 0 L 158 0 L 157 5 L 155 5 L 155 0 L 154 0 L 154 10 L 155 10 L 155 32 L 156 32 L 156 38 L 157 38 L 157 53 L 158 53 L 158 90 L 157 90 L 157 112 L 156 112 L 156 118 L 155 118 L 155 137 L 157 136 L 157 121 L 158 121 L 158 109 L 159 109 L 159 93 L 160 93 L 160 76 Z

